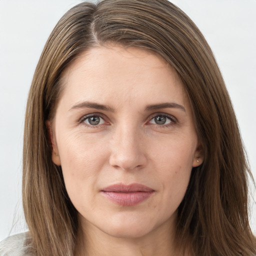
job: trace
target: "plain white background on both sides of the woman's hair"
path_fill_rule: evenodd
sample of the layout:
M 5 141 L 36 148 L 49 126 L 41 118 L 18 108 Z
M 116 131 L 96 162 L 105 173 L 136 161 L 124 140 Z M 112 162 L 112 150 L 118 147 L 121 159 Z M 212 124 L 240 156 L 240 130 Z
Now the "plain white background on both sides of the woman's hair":
M 25 230 L 21 155 L 25 102 L 43 45 L 79 0 L 0 0 L 0 240 Z M 210 44 L 256 178 L 256 0 L 173 0 Z M 214 138 L 213 138 L 214 139 Z M 255 189 L 251 226 L 256 233 Z

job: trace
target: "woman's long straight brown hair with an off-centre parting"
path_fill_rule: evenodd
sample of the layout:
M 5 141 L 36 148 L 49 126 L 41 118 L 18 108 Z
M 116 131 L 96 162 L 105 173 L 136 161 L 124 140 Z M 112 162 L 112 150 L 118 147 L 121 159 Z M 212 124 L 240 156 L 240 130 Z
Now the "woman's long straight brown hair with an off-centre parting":
M 204 162 L 178 207 L 177 240 L 192 255 L 255 255 L 248 222 L 246 162 L 235 114 L 214 56 L 195 24 L 167 0 L 80 3 L 51 32 L 30 88 L 23 144 L 23 208 L 34 255 L 73 255 L 77 212 L 61 167 L 51 161 L 45 121 L 61 95 L 61 73 L 81 52 L 117 44 L 150 50 L 183 82 Z M 29 242 L 29 241 L 28 241 Z

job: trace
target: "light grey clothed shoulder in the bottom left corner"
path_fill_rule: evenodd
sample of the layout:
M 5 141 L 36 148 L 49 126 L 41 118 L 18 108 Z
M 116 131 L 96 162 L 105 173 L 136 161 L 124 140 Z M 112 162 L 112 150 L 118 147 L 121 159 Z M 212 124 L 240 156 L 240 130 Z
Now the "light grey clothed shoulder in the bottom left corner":
M 24 256 L 28 232 L 11 235 L 0 242 L 0 256 Z

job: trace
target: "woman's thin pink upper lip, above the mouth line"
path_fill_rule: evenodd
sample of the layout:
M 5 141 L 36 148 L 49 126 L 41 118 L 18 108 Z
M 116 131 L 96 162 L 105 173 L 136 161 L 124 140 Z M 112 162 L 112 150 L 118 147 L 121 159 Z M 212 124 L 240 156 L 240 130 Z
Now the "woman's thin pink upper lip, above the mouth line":
M 125 185 L 123 183 L 118 183 L 118 184 L 113 184 L 110 186 L 107 186 L 103 189 L 101 189 L 101 191 L 104 192 L 138 192 L 138 191 L 145 191 L 145 192 L 149 192 L 149 191 L 154 191 L 154 189 L 139 184 L 139 183 L 132 183 L 132 184 L 128 184 Z

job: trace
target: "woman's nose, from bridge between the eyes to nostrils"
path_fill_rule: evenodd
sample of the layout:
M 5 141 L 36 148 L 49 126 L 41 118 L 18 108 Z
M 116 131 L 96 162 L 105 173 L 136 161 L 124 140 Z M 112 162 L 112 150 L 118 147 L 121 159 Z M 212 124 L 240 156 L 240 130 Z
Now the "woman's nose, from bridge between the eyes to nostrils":
M 117 128 L 110 141 L 110 165 L 123 170 L 140 169 L 146 165 L 145 141 L 135 127 Z

